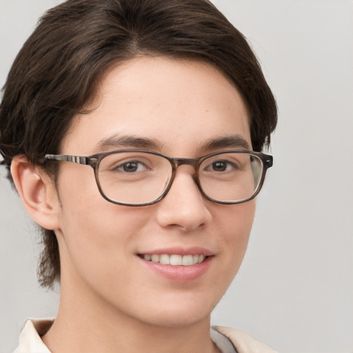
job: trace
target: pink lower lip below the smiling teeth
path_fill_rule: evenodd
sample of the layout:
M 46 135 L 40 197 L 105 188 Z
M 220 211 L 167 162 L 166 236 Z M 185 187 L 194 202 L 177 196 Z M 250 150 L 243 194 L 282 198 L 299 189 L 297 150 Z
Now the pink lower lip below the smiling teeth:
M 208 256 L 201 263 L 190 266 L 163 265 L 162 263 L 140 259 L 143 261 L 143 265 L 166 279 L 176 282 L 189 282 L 198 279 L 207 272 L 208 268 L 210 268 L 213 256 Z

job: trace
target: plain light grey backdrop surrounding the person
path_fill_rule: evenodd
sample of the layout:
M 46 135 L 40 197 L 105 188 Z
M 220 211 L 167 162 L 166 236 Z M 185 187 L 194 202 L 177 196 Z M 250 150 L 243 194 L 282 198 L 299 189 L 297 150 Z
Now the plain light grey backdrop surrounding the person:
M 43 11 L 0 0 L 0 84 Z M 248 253 L 214 311 L 283 353 L 353 352 L 353 1 L 214 0 L 248 37 L 276 94 L 274 168 Z M 0 171 L 0 352 L 28 317 L 52 317 L 35 228 Z

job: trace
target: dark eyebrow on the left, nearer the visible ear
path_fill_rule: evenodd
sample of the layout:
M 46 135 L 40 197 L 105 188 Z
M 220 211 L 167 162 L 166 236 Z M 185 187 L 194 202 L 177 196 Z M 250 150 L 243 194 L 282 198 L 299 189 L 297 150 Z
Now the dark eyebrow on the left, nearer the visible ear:
M 96 146 L 97 150 L 109 150 L 121 147 L 144 148 L 149 150 L 158 150 L 161 146 L 154 139 L 146 139 L 145 137 L 137 137 L 134 135 L 114 134 L 105 139 L 101 139 Z

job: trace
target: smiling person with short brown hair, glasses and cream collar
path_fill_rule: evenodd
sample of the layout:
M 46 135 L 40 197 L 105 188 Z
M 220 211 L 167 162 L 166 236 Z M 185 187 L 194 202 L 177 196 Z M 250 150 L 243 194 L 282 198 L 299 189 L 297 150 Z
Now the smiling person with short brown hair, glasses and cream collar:
M 8 177 L 41 227 L 55 320 L 19 352 L 273 352 L 210 314 L 241 265 L 276 102 L 208 0 L 68 0 L 15 59 Z

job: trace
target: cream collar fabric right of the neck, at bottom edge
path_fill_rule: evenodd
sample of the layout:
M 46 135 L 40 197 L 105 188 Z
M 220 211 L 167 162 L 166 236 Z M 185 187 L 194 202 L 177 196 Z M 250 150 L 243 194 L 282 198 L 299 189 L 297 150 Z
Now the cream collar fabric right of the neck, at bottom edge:
M 250 334 L 233 327 L 214 326 L 214 330 L 228 337 L 238 353 L 276 353 L 268 345 L 253 339 Z

